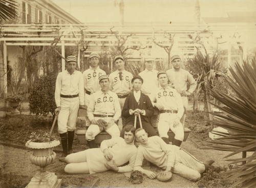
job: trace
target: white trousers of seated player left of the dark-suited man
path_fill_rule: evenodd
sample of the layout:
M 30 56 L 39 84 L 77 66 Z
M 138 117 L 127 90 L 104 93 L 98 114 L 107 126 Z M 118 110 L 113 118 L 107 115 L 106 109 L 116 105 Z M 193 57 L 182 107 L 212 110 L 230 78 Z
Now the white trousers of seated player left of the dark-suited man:
M 106 122 L 109 122 L 112 119 L 112 117 L 106 117 L 106 118 L 95 117 L 95 119 L 96 120 L 103 119 Z M 94 140 L 95 136 L 98 135 L 102 130 L 103 130 L 103 128 L 100 128 L 98 125 L 91 124 L 86 131 L 86 140 L 88 140 L 88 141 Z M 112 138 L 120 137 L 120 130 L 119 130 L 117 124 L 115 124 L 115 123 L 108 129 L 104 129 L 104 130 L 106 132 L 108 132 Z

